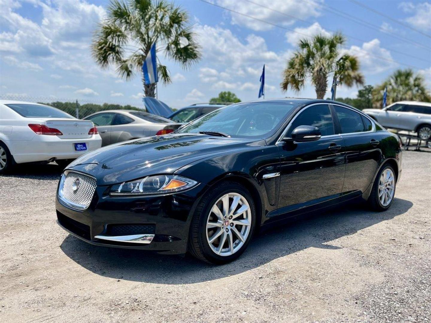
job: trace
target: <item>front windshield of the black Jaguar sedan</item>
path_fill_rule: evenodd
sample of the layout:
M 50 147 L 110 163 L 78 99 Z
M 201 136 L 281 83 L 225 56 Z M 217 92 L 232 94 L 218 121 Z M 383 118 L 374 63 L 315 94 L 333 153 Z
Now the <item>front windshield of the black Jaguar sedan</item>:
M 296 106 L 273 102 L 238 103 L 209 112 L 178 132 L 215 131 L 232 137 L 264 137 L 275 130 Z

